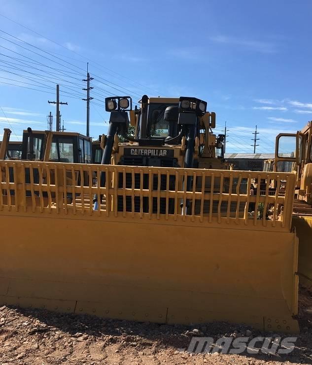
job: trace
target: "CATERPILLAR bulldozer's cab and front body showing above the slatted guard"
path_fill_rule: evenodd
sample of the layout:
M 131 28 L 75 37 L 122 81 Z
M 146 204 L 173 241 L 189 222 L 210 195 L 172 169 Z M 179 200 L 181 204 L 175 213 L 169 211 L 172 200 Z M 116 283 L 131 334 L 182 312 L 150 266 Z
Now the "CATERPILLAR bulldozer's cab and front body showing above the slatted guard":
M 120 107 L 120 103 L 128 109 Z M 110 123 L 119 123 L 117 116 L 123 113 L 124 122 L 121 118 L 116 135 L 127 141 L 119 143 L 119 139 L 114 139 L 110 163 L 225 168 L 224 136 L 213 134 L 215 113 L 206 111 L 206 101 L 194 97 L 149 98 L 143 95 L 139 103 L 140 108 L 132 110 L 130 97 L 105 99 L 106 111 L 111 112 Z M 134 136 L 127 135 L 129 122 L 135 127 Z

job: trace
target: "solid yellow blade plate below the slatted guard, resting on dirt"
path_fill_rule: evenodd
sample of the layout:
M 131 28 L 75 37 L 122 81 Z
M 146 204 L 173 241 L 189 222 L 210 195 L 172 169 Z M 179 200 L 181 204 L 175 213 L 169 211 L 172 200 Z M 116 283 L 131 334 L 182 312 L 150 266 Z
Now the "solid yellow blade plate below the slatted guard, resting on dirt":
M 292 233 L 61 217 L 1 220 L 2 303 L 298 331 Z M 13 240 L 14 227 L 22 235 Z

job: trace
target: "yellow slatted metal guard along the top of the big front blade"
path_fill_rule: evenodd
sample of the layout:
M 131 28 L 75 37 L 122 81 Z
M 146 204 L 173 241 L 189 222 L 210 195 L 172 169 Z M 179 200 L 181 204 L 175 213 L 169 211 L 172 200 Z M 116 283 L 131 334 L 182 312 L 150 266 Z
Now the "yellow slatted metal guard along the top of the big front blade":
M 0 167 L 0 212 L 290 229 L 293 173 L 10 160 Z

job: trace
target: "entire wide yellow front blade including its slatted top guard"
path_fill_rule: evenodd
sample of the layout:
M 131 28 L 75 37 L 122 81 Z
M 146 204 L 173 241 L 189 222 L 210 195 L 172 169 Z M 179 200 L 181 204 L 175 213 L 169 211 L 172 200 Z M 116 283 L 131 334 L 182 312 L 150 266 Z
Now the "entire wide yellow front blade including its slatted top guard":
M 290 228 L 294 174 L 34 161 L 0 161 L 0 166 L 13 172 L 4 174 L 10 181 L 2 174 L 0 183 L 0 303 L 169 324 L 228 321 L 299 331 L 298 240 Z M 25 169 L 34 167 L 41 176 L 46 170 L 47 177 L 53 170 L 55 182 L 25 183 Z M 85 169 L 90 177 L 104 171 L 105 187 L 66 185 L 67 170 L 74 175 L 74 169 Z M 133 188 L 125 187 L 126 174 Z M 162 190 L 161 175 L 167 175 L 167 186 L 175 177 L 173 186 Z M 179 190 L 179 176 L 201 177 L 200 191 Z M 267 186 L 285 180 L 286 194 L 269 196 L 259 187 L 249 196 L 251 179 L 264 176 Z M 118 177 L 124 178 L 121 183 Z M 158 177 L 158 183 L 149 177 Z M 89 198 L 83 204 L 95 191 L 98 199 L 105 196 L 98 211 Z M 68 192 L 79 194 L 79 204 L 68 203 Z M 179 211 L 187 200 L 189 214 Z M 224 213 L 223 203 L 228 203 Z M 249 219 L 251 203 L 255 213 Z M 276 213 L 265 219 L 269 203 L 274 212 L 282 206 L 280 219 Z

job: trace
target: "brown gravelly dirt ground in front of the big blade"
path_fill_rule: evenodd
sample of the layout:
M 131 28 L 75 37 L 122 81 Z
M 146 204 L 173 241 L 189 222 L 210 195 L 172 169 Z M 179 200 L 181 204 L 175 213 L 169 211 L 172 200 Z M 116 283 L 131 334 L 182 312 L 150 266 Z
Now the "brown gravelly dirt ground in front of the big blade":
M 0 364 L 312 364 L 312 293 L 303 288 L 299 322 L 301 334 L 288 355 L 192 354 L 186 349 L 193 335 L 275 334 L 227 323 L 194 328 L 2 306 Z

